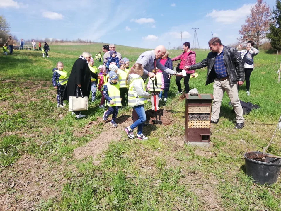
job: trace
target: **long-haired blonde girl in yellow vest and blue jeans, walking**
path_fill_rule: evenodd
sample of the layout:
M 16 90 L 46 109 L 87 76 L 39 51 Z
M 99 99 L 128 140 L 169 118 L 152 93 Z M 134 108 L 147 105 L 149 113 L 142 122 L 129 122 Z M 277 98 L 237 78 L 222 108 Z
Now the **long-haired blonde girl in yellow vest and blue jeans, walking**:
M 128 106 L 133 107 L 134 111 L 137 113 L 138 120 L 136 120 L 132 125 L 125 127 L 125 132 L 130 139 L 133 139 L 133 130 L 138 127 L 138 132 L 136 135 L 137 138 L 146 140 L 148 138 L 145 137 L 142 133 L 143 123 L 146 121 L 144 104 L 147 103 L 147 98 L 149 98 L 150 95 L 145 91 L 145 85 L 142 79 L 142 75 L 142 64 L 135 63 L 126 79 L 126 84 L 129 86 Z

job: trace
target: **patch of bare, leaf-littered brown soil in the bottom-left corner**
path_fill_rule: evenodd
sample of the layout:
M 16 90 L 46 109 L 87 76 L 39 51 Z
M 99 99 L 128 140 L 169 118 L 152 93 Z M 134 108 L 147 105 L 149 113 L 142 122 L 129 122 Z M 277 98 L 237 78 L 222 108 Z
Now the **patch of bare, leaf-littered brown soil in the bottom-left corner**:
M 62 174 L 64 167 L 24 157 L 12 169 L 2 171 L 1 181 L 5 182 L 0 184 L 4 193 L 0 196 L 0 210 L 34 210 L 40 200 L 57 197 L 67 182 Z M 16 170 L 15 174 L 11 173 Z

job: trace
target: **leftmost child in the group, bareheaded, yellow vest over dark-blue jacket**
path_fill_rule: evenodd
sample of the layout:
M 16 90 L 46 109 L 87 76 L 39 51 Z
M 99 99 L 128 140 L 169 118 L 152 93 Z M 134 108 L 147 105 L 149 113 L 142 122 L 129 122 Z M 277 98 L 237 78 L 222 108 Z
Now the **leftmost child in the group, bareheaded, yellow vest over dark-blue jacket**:
M 67 72 L 63 69 L 63 63 L 57 62 L 57 69 L 53 72 L 53 86 L 57 89 L 57 108 L 63 108 L 65 104 L 63 103 L 63 96 L 67 84 Z

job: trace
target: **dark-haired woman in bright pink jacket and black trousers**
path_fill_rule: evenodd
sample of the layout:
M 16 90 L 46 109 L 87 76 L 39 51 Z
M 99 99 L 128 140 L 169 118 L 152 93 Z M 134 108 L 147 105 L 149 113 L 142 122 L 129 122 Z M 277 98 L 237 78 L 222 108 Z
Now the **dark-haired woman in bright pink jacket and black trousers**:
M 179 72 L 181 72 L 183 70 L 183 67 L 185 65 L 193 65 L 195 64 L 195 59 L 196 59 L 196 53 L 192 50 L 189 49 L 190 48 L 190 43 L 189 42 L 185 42 L 183 43 L 183 53 L 178 55 L 177 57 L 173 58 L 172 61 L 177 61 L 177 60 L 181 60 L 180 61 L 180 66 L 179 66 Z M 184 89 L 185 89 L 185 93 L 189 92 L 189 78 L 190 75 L 192 77 L 194 77 L 194 70 L 187 70 L 186 72 L 186 76 L 184 78 Z M 180 80 L 182 79 L 181 76 L 176 76 L 176 84 L 178 86 L 178 93 L 177 94 L 181 94 L 182 89 L 180 86 Z

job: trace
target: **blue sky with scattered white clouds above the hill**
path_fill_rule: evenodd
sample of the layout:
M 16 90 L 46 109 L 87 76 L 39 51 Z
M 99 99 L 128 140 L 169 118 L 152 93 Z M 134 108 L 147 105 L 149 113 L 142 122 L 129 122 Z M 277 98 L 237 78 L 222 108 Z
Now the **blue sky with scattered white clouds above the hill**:
M 0 0 L 0 15 L 19 39 L 88 39 L 143 48 L 183 42 L 207 48 L 211 31 L 223 44 L 237 42 L 238 30 L 255 0 Z M 265 1 L 270 8 L 275 0 Z M 196 47 L 198 47 L 196 43 Z

